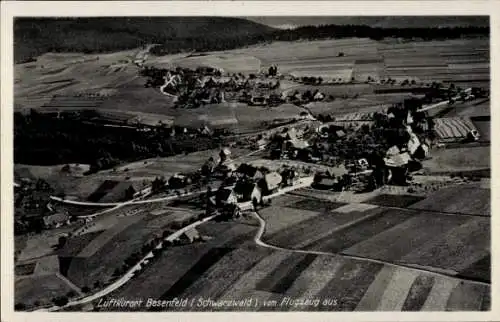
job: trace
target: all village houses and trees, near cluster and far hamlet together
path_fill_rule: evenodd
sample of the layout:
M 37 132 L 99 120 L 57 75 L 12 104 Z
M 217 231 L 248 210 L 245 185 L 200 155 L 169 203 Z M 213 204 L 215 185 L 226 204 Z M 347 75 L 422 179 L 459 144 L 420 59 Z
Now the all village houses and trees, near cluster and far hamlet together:
M 135 63 L 141 67 L 141 74 L 148 77 L 145 86 L 159 88 L 165 95 L 174 97 L 179 107 L 196 108 L 202 104 L 232 100 L 249 106 L 273 108 L 281 104 L 295 104 L 304 108 L 300 119 L 305 120 L 305 123 L 296 121 L 289 125 L 271 127 L 258 134 L 247 135 L 238 142 L 223 140 L 221 143 L 226 147 L 219 153 L 214 153 L 196 171 L 176 173 L 169 178 L 156 177 L 150 186 L 144 186 L 140 190 L 131 185 L 124 190 L 122 196 L 123 202 L 147 200 L 155 196 L 176 198 L 208 187 L 205 189 L 207 197 L 203 205 L 205 215 L 208 217 L 217 214 L 226 220 L 238 218 L 241 211 L 248 209 L 249 205 L 254 209 L 269 205 L 269 196 L 276 195 L 283 189 L 297 189 L 295 185 L 300 185 L 301 188 L 301 179 L 304 178 L 311 179 L 310 185 L 314 189 L 332 192 L 368 193 L 387 184 L 409 186 L 412 174 L 418 174 L 422 169 L 421 162 L 432 158 L 431 150 L 444 147 L 443 143 L 436 140 L 433 117 L 427 111 L 488 95 L 481 88 L 463 90 L 453 84 L 445 88 L 433 82 L 429 84 L 430 89 L 425 95 L 412 95 L 401 103 L 380 109 L 379 112 L 357 113 L 354 118 L 349 117 L 349 113 L 345 118 L 322 114 L 315 117 L 308 111 L 308 104 L 335 98 L 323 94 L 319 89 L 314 92 L 288 90 L 280 93 L 280 81 L 321 85 L 339 84 L 343 82 L 342 79 L 285 76 L 280 74 L 277 65 L 271 65 L 258 75 L 239 73 L 225 76 L 222 69 L 212 67 L 199 67 L 196 70 L 178 67 L 169 71 L 144 67 L 142 60 Z M 346 82 L 353 83 L 355 80 Z M 374 82 L 371 77 L 366 80 L 366 83 Z M 390 79 L 378 82 L 394 84 L 394 80 Z M 411 82 L 407 80 L 402 83 L 402 86 L 410 85 Z M 50 113 L 50 109 L 44 111 L 44 115 L 50 116 Z M 65 113 L 65 116 L 61 116 L 61 113 Z M 78 117 L 105 126 L 109 122 L 116 123 L 116 116 L 110 115 L 105 120 L 93 110 L 59 111 L 56 117 Z M 154 126 L 140 123 L 130 126 L 133 124 L 124 120 L 128 127 L 140 132 L 155 132 L 158 128 L 165 131 L 165 125 L 161 122 Z M 124 126 L 123 123 L 119 124 L 119 127 Z M 137 125 L 140 126 L 136 127 Z M 208 125 L 189 129 L 176 126 L 170 129 L 169 135 L 173 137 L 179 133 L 191 138 L 212 138 L 215 132 Z M 478 131 L 471 129 L 466 133 L 463 143 L 476 142 L 479 138 Z M 254 165 L 252 161 L 246 163 L 244 160 L 235 162 L 231 158 L 232 147 L 247 148 L 253 151 L 251 154 L 267 159 L 266 165 L 271 166 L 259 165 L 259 162 Z M 273 163 L 276 165 L 273 166 Z M 37 227 L 36 230 L 39 231 L 41 228 L 74 224 L 77 216 L 69 211 L 56 210 L 57 202 L 54 201 L 64 201 L 64 196 L 51 197 L 52 200 L 47 198 L 54 190 L 45 181 L 31 182 L 25 178 L 21 179 L 21 183 L 16 183 L 15 188 L 19 196 L 17 203 L 21 208 L 43 208 L 46 213 L 41 218 L 37 215 L 26 217 L 27 221 L 19 222 L 20 231 L 33 229 L 27 227 Z M 39 191 L 38 194 L 42 196 L 23 199 L 22 196 L 29 195 L 32 189 Z M 30 221 L 30 218 L 34 221 Z M 92 218 L 85 219 L 85 223 Z

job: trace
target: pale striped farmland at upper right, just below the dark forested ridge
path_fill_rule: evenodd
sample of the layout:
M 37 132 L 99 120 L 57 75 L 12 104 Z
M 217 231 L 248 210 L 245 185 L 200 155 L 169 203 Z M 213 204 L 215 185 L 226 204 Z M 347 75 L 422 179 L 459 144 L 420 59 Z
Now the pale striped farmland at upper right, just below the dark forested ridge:
M 470 81 L 489 82 L 489 48 L 481 39 L 416 43 L 370 39 L 279 42 L 233 52 L 255 56 L 263 66 L 276 63 L 283 73 L 305 73 L 325 79 L 346 81 L 355 77 L 366 81 L 368 76 L 375 80 L 391 77 L 418 82 L 460 82 L 464 87 Z M 343 57 L 339 53 L 344 53 Z

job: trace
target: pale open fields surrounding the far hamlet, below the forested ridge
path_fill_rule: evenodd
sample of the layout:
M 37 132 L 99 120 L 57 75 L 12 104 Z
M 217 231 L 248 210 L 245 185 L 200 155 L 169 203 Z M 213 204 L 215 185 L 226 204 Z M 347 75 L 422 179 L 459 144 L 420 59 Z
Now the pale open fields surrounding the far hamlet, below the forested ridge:
M 262 121 L 293 119 L 302 111 L 291 106 L 265 109 L 242 104 L 220 104 L 193 110 L 174 109 L 171 98 L 158 90 L 144 87 L 146 80 L 138 76 L 138 68 L 132 63 L 139 53 L 139 50 L 100 55 L 48 53 L 37 62 L 15 65 L 16 109 L 42 108 L 44 104 L 47 105 L 44 108 L 65 109 L 90 104 L 101 110 L 140 117 L 148 124 L 157 124 L 161 119 L 167 124 L 174 122 L 185 125 L 186 120 L 194 119 L 200 124 L 237 127 L 242 131 L 261 127 Z M 408 88 L 404 89 L 406 93 L 374 94 L 380 85 L 364 84 L 369 76 L 374 80 L 389 77 L 398 82 L 415 80 L 417 86 L 443 81 L 456 83 L 462 88 L 489 87 L 489 48 L 486 39 L 412 43 L 358 38 L 275 42 L 196 57 L 151 56 L 146 64 L 156 67 L 209 65 L 221 67 L 228 74 L 255 73 L 277 64 L 283 74 L 321 76 L 324 82 L 335 80 L 339 83 L 339 79 L 340 83 L 350 82 L 354 77 L 358 83 L 286 86 L 287 90 L 318 89 L 327 95 L 351 97 L 337 98 L 331 104 L 312 106 L 313 113 L 319 114 L 332 112 L 338 115 L 353 109 L 356 110 L 352 113 L 358 113 L 358 108 L 375 111 L 378 106 L 400 101 L 411 92 Z M 55 94 L 80 93 L 98 95 L 92 100 L 82 96 L 62 103 L 50 102 Z M 353 99 L 354 96 L 359 97 Z M 472 110 L 485 108 L 478 105 Z

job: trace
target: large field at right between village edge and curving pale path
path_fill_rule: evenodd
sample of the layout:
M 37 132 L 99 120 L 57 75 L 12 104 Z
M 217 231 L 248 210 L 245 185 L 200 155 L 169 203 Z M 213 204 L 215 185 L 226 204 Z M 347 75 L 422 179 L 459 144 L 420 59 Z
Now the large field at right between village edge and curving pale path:
M 489 268 L 480 262 L 489 256 L 489 190 L 464 185 L 421 199 L 380 195 L 365 201 L 376 207 L 349 206 L 350 209 L 340 203 L 309 198 L 287 202 L 286 206 L 273 205 L 261 211 L 268 220 L 262 239 L 291 249 L 341 252 L 437 267 L 488 280 Z M 304 215 L 296 219 L 300 216 L 293 214 L 304 205 L 317 210 L 302 210 Z M 288 220 L 288 214 L 292 214 L 293 220 Z M 444 246 L 446 243 L 448 246 Z M 480 268 L 472 271 L 476 266 Z

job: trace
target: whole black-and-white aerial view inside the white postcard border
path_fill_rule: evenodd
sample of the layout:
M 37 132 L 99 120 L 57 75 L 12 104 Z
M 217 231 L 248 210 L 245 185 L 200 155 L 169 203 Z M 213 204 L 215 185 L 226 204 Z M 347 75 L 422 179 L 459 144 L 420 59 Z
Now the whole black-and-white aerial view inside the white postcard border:
M 491 311 L 488 16 L 13 29 L 15 311 Z

